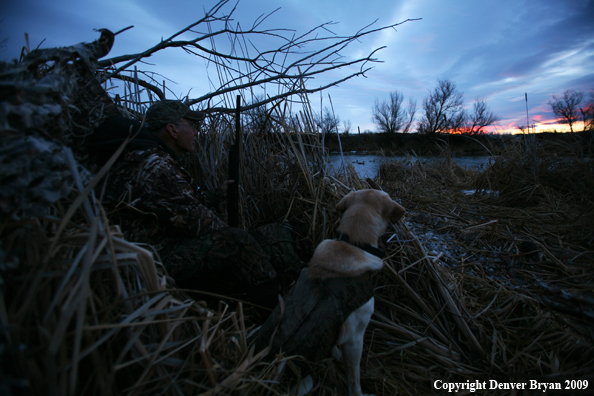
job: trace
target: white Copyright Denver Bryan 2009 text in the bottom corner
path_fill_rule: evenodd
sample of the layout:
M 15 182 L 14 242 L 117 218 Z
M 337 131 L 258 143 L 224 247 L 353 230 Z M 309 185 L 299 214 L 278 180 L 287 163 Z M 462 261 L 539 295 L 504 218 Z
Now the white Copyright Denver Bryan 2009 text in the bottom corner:
M 549 390 L 573 390 L 580 391 L 588 389 L 588 380 L 564 380 L 555 382 L 545 382 L 537 380 L 528 380 L 523 382 L 501 382 L 496 380 L 488 381 L 470 381 L 466 382 L 444 382 L 436 380 L 433 382 L 433 388 L 447 390 L 451 393 L 462 391 L 483 391 L 483 390 L 535 390 L 546 392 Z

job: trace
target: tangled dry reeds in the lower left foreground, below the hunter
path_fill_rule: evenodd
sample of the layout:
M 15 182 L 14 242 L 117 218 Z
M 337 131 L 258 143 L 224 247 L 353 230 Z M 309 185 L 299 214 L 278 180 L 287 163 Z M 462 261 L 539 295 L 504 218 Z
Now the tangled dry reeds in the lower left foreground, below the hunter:
M 4 249 L 21 253 L 2 290 L 5 379 L 65 395 L 225 393 L 269 379 L 251 372 L 259 357 L 241 304 L 207 309 L 177 290 L 150 246 L 123 240 L 96 202 L 82 203 L 94 214 L 85 223 L 4 224 Z

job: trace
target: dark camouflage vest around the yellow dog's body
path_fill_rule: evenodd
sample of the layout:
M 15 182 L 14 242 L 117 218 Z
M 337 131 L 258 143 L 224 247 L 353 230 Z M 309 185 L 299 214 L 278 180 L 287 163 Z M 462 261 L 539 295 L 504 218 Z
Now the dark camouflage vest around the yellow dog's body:
M 310 279 L 307 268 L 255 334 L 256 350 L 270 345 L 268 358 L 279 352 L 308 361 L 328 357 L 340 328 L 357 308 L 373 297 L 369 272 L 357 278 Z

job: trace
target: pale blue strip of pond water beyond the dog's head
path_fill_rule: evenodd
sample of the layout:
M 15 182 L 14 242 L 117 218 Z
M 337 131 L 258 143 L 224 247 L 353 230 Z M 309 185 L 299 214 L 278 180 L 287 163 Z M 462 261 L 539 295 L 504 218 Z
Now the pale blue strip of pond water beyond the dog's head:
M 340 154 L 330 154 L 330 163 L 334 169 L 338 169 L 342 165 L 343 156 Z M 484 169 L 489 164 L 490 156 L 465 156 L 465 157 L 452 157 L 452 161 L 458 163 L 458 165 L 464 168 L 475 168 Z M 355 168 L 355 171 L 359 177 L 365 179 L 367 177 L 373 179 L 377 176 L 380 164 L 382 161 L 393 161 L 399 160 L 404 161 L 407 157 L 400 156 L 381 156 L 381 155 L 368 155 L 368 154 L 344 154 L 344 161 L 351 163 Z M 435 157 L 413 157 L 413 160 L 421 160 L 423 162 L 435 161 Z

